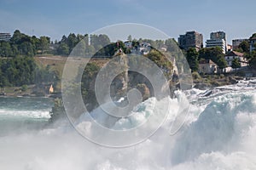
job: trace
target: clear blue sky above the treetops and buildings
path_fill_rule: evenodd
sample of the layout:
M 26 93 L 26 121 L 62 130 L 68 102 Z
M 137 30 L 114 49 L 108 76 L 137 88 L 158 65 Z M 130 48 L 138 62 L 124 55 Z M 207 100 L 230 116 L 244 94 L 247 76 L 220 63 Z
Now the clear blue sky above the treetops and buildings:
M 139 23 L 177 38 L 199 31 L 225 31 L 228 42 L 256 32 L 255 0 L 0 0 L 0 32 L 16 29 L 60 40 L 103 26 Z

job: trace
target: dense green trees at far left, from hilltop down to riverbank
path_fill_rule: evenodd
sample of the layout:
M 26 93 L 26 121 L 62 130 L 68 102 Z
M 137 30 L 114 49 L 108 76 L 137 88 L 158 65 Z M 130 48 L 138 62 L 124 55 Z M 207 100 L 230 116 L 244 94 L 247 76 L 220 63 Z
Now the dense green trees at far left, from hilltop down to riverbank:
M 0 42 L 0 87 L 56 83 L 60 73 L 36 65 L 33 56 L 49 53 L 49 37 L 29 37 L 16 30 L 9 41 Z

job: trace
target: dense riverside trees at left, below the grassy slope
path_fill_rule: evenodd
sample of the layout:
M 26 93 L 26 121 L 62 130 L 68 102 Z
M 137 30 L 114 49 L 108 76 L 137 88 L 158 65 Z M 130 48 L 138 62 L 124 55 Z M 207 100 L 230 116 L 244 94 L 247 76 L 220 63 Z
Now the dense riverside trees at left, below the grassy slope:
M 60 73 L 49 66 L 39 67 L 32 57 L 0 58 L 0 87 L 43 83 L 56 84 Z

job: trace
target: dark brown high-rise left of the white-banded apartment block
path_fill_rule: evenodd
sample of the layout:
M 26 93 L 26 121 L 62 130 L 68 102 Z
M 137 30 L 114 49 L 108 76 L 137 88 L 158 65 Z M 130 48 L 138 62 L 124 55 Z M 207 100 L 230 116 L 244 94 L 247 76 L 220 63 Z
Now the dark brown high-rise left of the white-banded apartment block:
M 187 31 L 186 34 L 180 35 L 177 39 L 180 48 L 188 50 L 189 48 L 196 48 L 199 50 L 203 47 L 203 36 L 196 31 Z

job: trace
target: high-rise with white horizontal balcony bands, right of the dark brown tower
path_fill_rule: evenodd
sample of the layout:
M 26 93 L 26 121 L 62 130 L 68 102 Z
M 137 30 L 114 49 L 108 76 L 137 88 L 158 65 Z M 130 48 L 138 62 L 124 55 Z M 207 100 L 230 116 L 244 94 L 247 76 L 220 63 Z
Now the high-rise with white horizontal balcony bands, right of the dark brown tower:
M 227 38 L 224 31 L 212 32 L 210 39 L 207 40 L 207 48 L 219 47 L 223 53 L 227 52 Z

